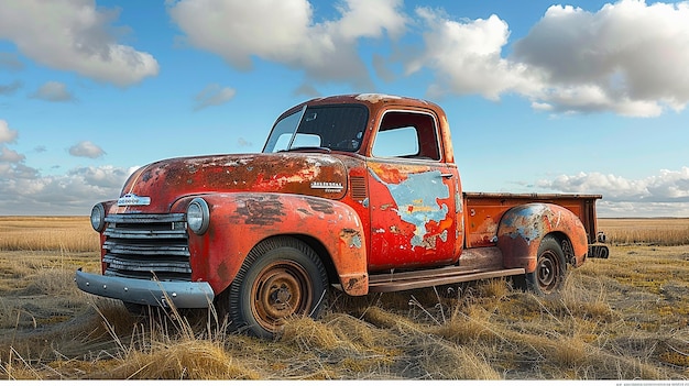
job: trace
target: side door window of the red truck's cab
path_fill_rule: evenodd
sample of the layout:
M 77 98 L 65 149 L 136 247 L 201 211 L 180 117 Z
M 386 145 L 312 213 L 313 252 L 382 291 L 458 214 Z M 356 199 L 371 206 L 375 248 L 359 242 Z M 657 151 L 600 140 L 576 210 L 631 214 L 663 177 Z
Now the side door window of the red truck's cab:
M 419 112 L 390 111 L 373 142 L 374 157 L 440 161 L 436 120 Z

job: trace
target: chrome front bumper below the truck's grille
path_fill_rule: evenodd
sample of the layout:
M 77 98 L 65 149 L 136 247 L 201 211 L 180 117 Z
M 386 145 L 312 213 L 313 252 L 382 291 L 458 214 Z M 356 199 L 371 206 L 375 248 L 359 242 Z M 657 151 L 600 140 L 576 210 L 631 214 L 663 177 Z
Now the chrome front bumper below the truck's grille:
M 215 297 L 206 282 L 154 282 L 94 275 L 78 269 L 75 282 L 85 293 L 138 305 L 208 308 Z

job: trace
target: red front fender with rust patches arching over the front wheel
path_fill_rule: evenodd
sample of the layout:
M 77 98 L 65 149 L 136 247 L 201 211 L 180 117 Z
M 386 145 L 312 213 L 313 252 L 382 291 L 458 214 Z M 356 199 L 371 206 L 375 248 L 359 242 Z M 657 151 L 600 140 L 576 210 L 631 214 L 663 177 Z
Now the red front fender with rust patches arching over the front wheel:
M 193 279 L 208 282 L 216 294 L 232 283 L 251 249 L 281 234 L 317 240 L 332 258 L 342 289 L 349 295 L 368 294 L 364 232 L 349 206 L 292 194 L 211 194 L 203 198 L 208 202 L 210 224 L 203 235 L 189 232 Z M 185 205 L 181 202 L 179 209 Z

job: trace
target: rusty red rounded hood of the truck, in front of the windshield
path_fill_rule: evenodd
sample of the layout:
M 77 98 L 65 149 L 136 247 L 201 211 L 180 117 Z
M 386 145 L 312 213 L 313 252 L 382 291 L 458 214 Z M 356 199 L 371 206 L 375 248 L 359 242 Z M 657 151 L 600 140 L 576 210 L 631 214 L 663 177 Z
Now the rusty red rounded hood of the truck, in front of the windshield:
M 275 153 L 183 157 L 134 172 L 120 194 L 120 212 L 167 212 L 181 198 L 221 192 L 283 192 L 340 199 L 343 163 L 328 154 Z M 141 205 L 139 198 L 150 198 Z M 125 206 L 127 202 L 140 205 Z

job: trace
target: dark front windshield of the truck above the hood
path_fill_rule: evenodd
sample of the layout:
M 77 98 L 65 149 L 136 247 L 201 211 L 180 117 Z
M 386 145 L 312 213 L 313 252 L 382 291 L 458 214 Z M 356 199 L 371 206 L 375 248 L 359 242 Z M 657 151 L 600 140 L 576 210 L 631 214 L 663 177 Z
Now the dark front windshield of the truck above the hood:
M 263 153 L 305 148 L 357 152 L 368 120 L 369 110 L 361 104 L 307 107 L 275 123 Z

